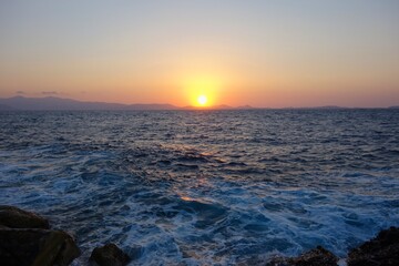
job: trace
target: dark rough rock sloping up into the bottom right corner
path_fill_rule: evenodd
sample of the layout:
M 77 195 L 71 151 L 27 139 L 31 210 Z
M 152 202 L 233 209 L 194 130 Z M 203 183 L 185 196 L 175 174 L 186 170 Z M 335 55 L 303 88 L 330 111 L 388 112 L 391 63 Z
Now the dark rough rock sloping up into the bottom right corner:
M 348 266 L 399 265 L 399 227 L 381 231 L 372 238 L 349 252 Z

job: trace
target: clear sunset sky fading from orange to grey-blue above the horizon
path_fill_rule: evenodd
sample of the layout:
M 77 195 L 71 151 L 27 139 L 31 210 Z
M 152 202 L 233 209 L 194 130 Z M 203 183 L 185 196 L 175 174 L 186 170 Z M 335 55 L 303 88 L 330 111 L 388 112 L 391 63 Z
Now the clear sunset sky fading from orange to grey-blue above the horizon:
M 4 0 L 0 98 L 399 105 L 397 0 Z

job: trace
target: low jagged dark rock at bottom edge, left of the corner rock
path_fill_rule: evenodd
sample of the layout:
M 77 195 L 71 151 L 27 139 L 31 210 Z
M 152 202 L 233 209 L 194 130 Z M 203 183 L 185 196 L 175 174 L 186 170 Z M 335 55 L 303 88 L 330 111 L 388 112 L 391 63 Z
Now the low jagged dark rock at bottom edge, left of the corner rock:
M 266 266 L 337 266 L 338 257 L 321 246 L 295 258 L 275 257 Z

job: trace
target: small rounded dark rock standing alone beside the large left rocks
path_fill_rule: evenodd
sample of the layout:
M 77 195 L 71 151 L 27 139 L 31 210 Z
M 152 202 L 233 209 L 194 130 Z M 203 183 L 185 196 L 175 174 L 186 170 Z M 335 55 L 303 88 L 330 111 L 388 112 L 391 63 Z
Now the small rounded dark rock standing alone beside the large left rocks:
M 115 244 L 106 244 L 103 247 L 94 248 L 90 260 L 100 266 L 124 266 L 129 263 L 130 257 Z

